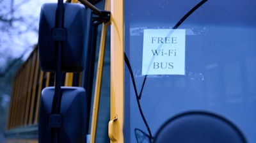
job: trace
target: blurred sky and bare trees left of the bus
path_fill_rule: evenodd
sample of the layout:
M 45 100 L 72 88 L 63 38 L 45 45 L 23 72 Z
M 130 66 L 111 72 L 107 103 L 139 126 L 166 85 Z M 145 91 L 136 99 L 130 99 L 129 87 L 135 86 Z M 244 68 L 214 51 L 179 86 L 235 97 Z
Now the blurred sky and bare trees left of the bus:
M 0 0 L 0 142 L 4 142 L 12 79 L 38 41 L 40 7 L 56 2 Z

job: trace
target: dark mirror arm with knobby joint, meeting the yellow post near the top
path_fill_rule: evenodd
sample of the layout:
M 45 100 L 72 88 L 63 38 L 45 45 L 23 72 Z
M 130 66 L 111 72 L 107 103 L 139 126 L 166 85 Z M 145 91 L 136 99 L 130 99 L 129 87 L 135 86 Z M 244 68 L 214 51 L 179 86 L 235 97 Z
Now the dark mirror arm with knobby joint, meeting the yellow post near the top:
M 78 1 L 80 1 L 82 4 L 84 4 L 84 6 L 86 6 L 87 8 L 90 8 L 90 10 L 92 10 L 93 14 L 99 15 L 99 17 L 97 18 L 97 21 L 104 22 L 104 23 L 109 22 L 109 20 L 110 20 L 110 11 L 99 10 L 98 8 L 93 6 L 93 4 L 91 4 L 87 0 L 78 0 Z

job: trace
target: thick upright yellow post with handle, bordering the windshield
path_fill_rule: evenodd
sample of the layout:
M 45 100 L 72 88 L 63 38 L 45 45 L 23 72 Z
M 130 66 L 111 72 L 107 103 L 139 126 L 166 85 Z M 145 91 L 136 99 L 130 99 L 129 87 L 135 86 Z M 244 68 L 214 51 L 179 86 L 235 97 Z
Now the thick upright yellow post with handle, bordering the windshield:
M 124 1 L 111 0 L 111 142 L 124 142 Z M 111 130 L 113 133 L 111 133 Z

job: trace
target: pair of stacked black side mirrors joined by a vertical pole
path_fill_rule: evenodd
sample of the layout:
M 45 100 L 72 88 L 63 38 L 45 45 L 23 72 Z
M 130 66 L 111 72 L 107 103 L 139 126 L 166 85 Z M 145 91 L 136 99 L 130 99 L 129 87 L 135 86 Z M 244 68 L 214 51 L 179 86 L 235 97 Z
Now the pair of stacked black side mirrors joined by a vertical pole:
M 55 72 L 56 84 L 42 91 L 38 141 L 86 142 L 86 91 L 83 87 L 61 87 L 61 72 L 83 71 L 92 13 L 83 4 L 60 1 L 44 4 L 40 14 L 40 68 Z

